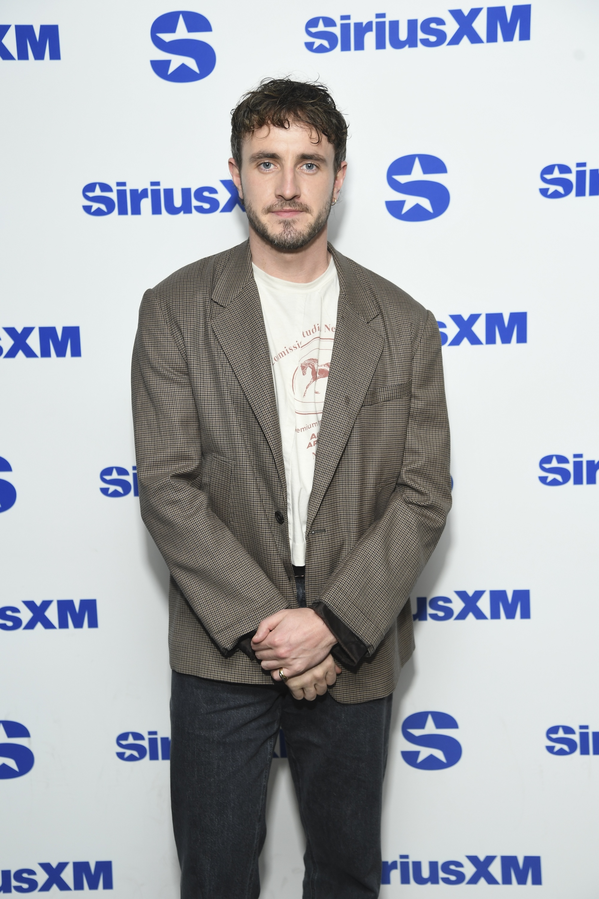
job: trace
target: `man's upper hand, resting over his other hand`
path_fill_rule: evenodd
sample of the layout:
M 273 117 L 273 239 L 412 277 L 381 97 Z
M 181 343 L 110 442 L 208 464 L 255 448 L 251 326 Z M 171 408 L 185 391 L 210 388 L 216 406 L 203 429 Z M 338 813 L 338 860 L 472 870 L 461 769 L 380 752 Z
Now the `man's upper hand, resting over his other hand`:
M 336 643 L 312 609 L 284 609 L 260 621 L 251 648 L 264 671 L 282 668 L 286 677 L 295 677 L 320 664 Z

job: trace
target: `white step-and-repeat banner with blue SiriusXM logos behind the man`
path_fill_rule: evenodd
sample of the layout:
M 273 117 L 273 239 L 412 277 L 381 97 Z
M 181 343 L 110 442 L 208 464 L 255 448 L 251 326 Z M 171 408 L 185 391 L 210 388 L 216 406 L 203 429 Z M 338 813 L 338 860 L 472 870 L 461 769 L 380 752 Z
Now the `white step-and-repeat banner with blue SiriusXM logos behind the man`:
M 0 3 L 0 893 L 178 894 L 129 360 L 144 290 L 245 238 L 230 111 L 291 74 L 349 121 L 332 241 L 444 344 L 454 510 L 411 598 L 381 895 L 595 899 L 597 46 L 595 0 Z M 301 895 L 303 840 L 282 735 L 262 895 Z

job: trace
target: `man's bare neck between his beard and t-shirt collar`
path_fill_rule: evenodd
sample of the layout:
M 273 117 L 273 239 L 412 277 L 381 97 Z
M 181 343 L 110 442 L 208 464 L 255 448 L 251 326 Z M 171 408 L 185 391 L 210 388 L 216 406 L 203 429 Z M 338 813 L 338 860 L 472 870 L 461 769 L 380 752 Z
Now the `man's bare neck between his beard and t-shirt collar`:
M 251 261 L 273 278 L 307 284 L 329 268 L 327 227 L 301 250 L 278 250 L 250 227 Z

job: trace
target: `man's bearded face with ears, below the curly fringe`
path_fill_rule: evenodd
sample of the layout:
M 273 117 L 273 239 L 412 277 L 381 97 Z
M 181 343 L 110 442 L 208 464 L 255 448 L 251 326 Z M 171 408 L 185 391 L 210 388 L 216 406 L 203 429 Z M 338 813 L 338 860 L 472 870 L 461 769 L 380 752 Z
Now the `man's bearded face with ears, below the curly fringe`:
M 243 140 L 242 168 L 229 168 L 251 228 L 279 250 L 299 250 L 326 226 L 347 163 L 335 171 L 328 139 L 309 127 L 265 125 Z

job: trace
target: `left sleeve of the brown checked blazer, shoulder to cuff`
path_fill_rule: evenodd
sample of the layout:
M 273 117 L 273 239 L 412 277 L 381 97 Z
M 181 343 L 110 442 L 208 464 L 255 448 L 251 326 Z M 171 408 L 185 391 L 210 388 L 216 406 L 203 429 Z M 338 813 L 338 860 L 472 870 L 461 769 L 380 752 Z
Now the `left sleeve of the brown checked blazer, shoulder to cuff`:
M 131 383 L 142 518 L 207 633 L 230 654 L 288 602 L 210 508 L 184 348 L 153 290 L 139 310 Z

